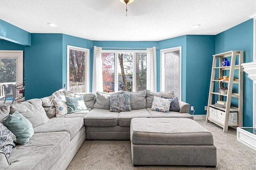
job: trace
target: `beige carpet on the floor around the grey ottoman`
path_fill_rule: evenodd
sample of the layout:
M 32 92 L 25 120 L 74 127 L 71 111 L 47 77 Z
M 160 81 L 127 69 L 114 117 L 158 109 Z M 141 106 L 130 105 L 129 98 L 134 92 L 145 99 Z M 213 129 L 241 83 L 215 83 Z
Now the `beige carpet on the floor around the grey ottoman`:
M 217 148 L 216 168 L 204 166 L 139 166 L 133 167 L 128 140 L 86 140 L 67 170 L 256 170 L 256 151 L 236 140 L 236 130 L 227 133 L 213 123 L 196 120 L 212 132 Z M 171 154 L 171 153 L 170 153 Z

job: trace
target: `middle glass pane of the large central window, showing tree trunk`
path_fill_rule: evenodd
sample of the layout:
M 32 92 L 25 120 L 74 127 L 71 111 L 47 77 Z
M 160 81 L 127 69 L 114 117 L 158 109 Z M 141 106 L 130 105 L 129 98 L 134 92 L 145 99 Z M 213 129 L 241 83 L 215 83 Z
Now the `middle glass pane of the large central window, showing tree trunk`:
M 132 60 L 132 53 L 118 53 L 118 90 L 132 91 Z

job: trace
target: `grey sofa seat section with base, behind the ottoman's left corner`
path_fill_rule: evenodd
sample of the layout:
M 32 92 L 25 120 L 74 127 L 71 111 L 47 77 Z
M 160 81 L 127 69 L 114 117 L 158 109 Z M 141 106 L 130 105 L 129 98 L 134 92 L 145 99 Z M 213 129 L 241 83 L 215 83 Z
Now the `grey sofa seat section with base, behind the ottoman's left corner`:
M 132 110 L 130 112 L 120 112 L 118 115 L 118 125 L 120 127 L 130 127 L 132 118 L 136 117 L 150 117 L 146 109 Z

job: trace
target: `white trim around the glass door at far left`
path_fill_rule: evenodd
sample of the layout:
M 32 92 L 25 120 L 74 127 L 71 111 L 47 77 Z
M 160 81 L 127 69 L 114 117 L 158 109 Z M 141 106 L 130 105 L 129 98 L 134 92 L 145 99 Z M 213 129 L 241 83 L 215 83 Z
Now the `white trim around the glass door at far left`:
M 16 85 L 23 83 L 23 51 L 22 50 L 0 50 L 0 57 L 17 59 Z

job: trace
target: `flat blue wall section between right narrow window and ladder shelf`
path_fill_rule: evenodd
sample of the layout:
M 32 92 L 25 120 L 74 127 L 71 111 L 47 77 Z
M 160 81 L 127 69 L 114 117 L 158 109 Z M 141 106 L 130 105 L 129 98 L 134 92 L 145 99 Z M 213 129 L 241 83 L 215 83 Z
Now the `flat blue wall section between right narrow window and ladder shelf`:
M 186 42 L 186 102 L 194 106 L 195 115 L 204 115 L 204 106 L 208 105 L 215 36 L 188 35 Z

